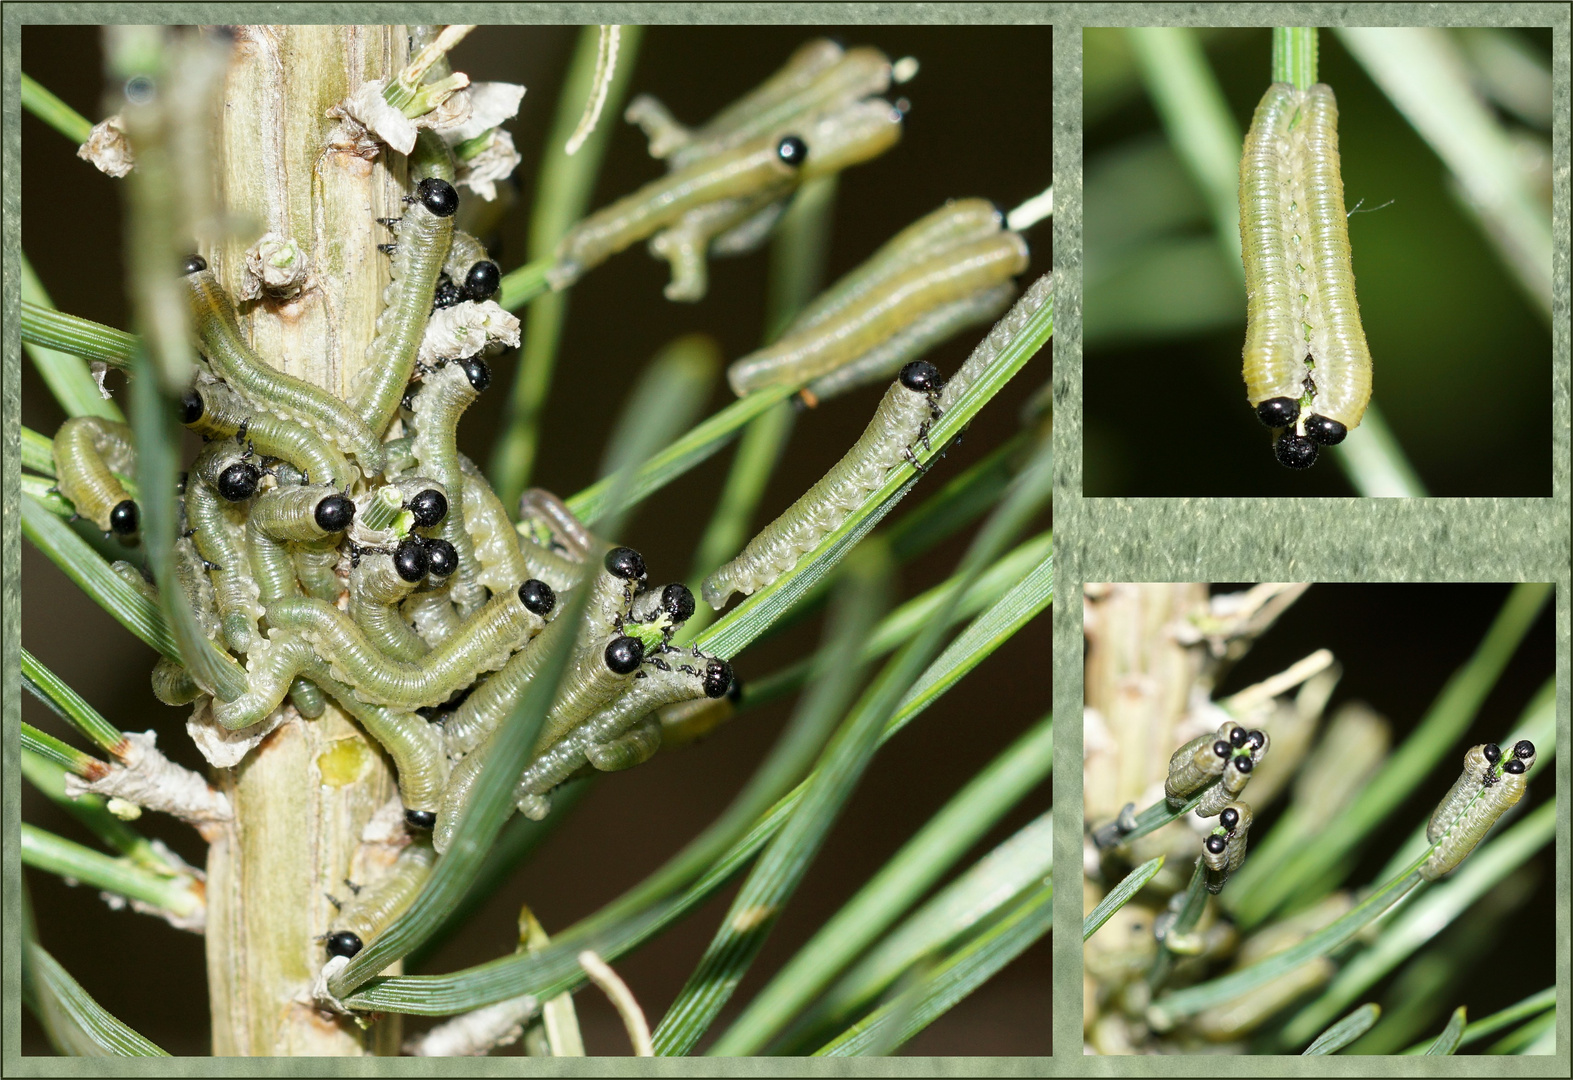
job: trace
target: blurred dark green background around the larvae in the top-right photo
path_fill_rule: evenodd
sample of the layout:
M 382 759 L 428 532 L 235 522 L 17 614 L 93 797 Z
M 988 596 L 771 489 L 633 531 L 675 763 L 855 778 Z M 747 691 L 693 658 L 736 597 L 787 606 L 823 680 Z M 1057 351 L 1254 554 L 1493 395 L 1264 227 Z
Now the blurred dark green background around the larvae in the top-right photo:
M 1241 134 L 1269 82 L 1271 33 L 1200 30 Z M 1551 31 L 1513 28 L 1549 68 Z M 1331 457 L 1273 457 L 1240 374 L 1244 289 L 1169 148 L 1123 30 L 1084 31 L 1087 495 L 1350 495 Z M 1335 33 L 1318 79 L 1339 97 L 1350 242 L 1373 401 L 1431 495 L 1551 495 L 1551 332 L 1447 168 Z M 1545 129 L 1505 116 L 1543 178 Z

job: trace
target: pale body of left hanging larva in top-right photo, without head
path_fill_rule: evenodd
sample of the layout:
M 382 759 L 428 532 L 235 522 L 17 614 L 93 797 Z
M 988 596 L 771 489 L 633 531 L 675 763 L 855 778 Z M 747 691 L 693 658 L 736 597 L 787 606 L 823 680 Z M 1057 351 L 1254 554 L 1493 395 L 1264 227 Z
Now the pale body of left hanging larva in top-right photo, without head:
M 1288 236 L 1293 200 L 1290 123 L 1299 94 L 1274 83 L 1257 105 L 1240 159 L 1240 248 L 1246 267 L 1246 395 L 1252 407 L 1269 398 L 1299 399 L 1306 380 L 1304 332 L 1296 316 L 1295 255 Z

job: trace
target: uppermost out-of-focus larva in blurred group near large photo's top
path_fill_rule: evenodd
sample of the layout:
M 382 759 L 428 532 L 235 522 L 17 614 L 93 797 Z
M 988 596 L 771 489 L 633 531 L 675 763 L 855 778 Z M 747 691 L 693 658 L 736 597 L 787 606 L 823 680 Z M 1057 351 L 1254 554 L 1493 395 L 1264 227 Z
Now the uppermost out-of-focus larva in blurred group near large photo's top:
M 882 94 L 890 86 L 890 61 L 878 49 L 851 49 L 818 38 L 801 46 L 780 71 L 695 129 L 678 124 L 648 94 L 635 97 L 624 119 L 650 138 L 651 157 L 683 168 L 777 130 L 802 116 L 831 112 Z

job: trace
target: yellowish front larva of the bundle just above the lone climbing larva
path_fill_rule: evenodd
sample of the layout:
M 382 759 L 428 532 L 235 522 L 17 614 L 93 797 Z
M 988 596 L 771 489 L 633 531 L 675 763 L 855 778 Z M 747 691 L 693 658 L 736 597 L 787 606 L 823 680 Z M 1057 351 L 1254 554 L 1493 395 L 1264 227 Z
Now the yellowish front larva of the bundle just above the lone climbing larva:
M 735 362 L 727 382 L 739 398 L 763 387 L 824 376 L 887 341 L 920 314 L 991 289 L 1027 267 L 1027 244 L 996 233 L 893 274 L 802 333 Z

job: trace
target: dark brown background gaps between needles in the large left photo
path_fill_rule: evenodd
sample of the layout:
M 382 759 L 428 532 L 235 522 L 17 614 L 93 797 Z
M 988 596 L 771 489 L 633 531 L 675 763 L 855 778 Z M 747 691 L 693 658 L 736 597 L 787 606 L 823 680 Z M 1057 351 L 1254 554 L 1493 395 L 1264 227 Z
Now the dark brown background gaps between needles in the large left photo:
M 919 75 L 900 88 L 911 101 L 903 141 L 884 157 L 842 178 L 827 281 L 856 266 L 884 239 L 950 197 L 983 195 L 1011 208 L 1051 182 L 1048 27 L 656 27 L 647 31 L 631 83 L 653 93 L 684 123 L 698 123 L 755 86 L 804 41 L 829 33 L 848 46 L 873 44 L 889 57 L 912 55 Z M 492 255 L 505 270 L 524 263 L 527 211 L 540 148 L 555 108 L 557 86 L 574 46 L 574 27 L 483 27 L 455 53 L 455 68 L 475 80 L 522 82 L 524 107 L 511 123 L 524 154 L 519 198 Z M 90 119 L 104 113 L 101 53 L 93 27 L 27 27 L 24 69 Z M 892 93 L 892 97 L 895 93 Z M 591 206 L 659 176 L 645 140 L 620 118 Z M 22 244 L 64 311 L 126 327 L 121 269 L 121 203 L 115 181 L 76 159 L 76 148 L 30 116 L 22 121 Z M 373 228 L 346 222 L 343 228 Z M 1032 230 L 1029 270 L 1048 270 L 1049 225 Z M 640 248 L 624 252 L 573 291 L 552 410 L 535 483 L 569 495 L 595 479 L 606 435 L 647 360 L 680 333 L 717 336 L 725 357 L 749 352 L 761 333 L 764 252 L 711 264 L 708 297 L 697 305 L 661 296 L 667 267 Z M 952 371 L 974 335 L 930 358 Z M 461 426 L 461 446 L 488 461 L 500 420 L 511 358 Z M 1049 377 L 1049 351 L 1035 358 L 972 424 L 966 442 L 933 470 L 909 505 L 977 461 L 1018 429 L 1019 406 Z M 110 379 L 112 388 L 116 379 Z M 760 509 L 758 525 L 783 509 L 853 443 L 878 401 L 868 388 L 826 404 L 798 421 L 794 439 Z M 717 384 L 709 402 L 731 395 Z M 50 434 L 63 413 L 24 363 L 22 421 Z M 620 538 L 639 547 L 653 580 L 681 580 L 730 464 L 730 451 L 659 492 Z M 898 509 L 897 514 L 901 511 Z M 1048 520 L 1038 523 L 1046 527 Z M 952 572 L 969 533 L 903 571 L 901 599 Z M 184 733 L 184 709 L 160 706 L 148 689 L 154 654 L 85 599 L 55 568 L 24 544 L 24 643 L 115 725 L 160 734 L 160 748 L 190 767 L 201 762 Z M 818 619 L 749 649 L 736 663 L 744 679 L 774 671 L 813 648 Z M 1048 711 L 1049 618 L 1037 619 L 972 673 L 875 759 L 835 832 L 788 906 L 733 1006 L 736 1016 L 764 981 L 893 854 L 967 778 Z M 451 972 L 511 953 L 514 920 L 529 902 L 549 932 L 588 915 L 661 865 L 727 805 L 774 744 L 791 703 L 747 714 L 695 748 L 661 755 L 640 769 L 602 778 L 596 791 L 546 841 L 535 858 L 466 931 L 423 968 Z M 33 698 L 24 718 L 68 736 Z M 1049 805 L 1048 784 L 971 852 L 983 850 Z M 93 843 L 36 791 L 24 789 L 24 819 L 63 836 Z M 629 822 L 640 822 L 631 828 Z M 190 830 L 145 816 L 138 827 L 201 865 Z M 206 979 L 201 939 L 129 912 L 110 912 L 87 888 L 47 874 L 25 876 L 41 940 L 101 1005 L 171 1053 L 208 1052 Z M 617 962 L 651 1023 L 659 1020 L 713 935 L 731 899 L 725 890 L 706 907 L 640 951 Z M 596 992 L 577 995 L 591 1055 L 628 1053 L 620 1020 Z M 406 1025 L 406 1031 L 420 1027 Z M 24 1053 L 47 1053 L 42 1033 L 25 1020 Z M 912 1041 L 915 1055 L 1049 1053 L 1049 942 L 1011 967 Z

